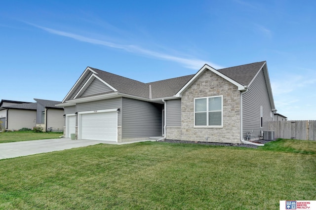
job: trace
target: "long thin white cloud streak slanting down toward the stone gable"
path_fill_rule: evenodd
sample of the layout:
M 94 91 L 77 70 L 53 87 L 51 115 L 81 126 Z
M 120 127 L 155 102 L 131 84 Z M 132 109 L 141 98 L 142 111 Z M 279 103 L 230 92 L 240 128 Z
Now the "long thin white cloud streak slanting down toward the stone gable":
M 76 39 L 76 40 L 82 41 L 82 42 L 87 42 L 87 43 L 91 43 L 91 44 L 97 44 L 97 45 L 102 45 L 102 46 L 106 46 L 106 47 L 121 49 L 121 50 L 125 50 L 125 51 L 131 52 L 131 53 L 137 53 L 137 54 L 142 54 L 145 56 L 150 56 L 153 58 L 158 58 L 158 59 L 162 59 L 162 60 L 176 62 L 176 63 L 183 65 L 185 68 L 188 68 L 188 69 L 199 70 L 204 64 L 208 64 L 215 69 L 222 69 L 223 68 L 219 65 L 213 64 L 211 62 L 199 60 L 199 59 L 182 58 L 182 57 L 178 57 L 178 56 L 174 56 L 174 55 L 169 55 L 169 54 L 165 54 L 165 53 L 160 53 L 160 52 L 148 50 L 148 49 L 145 49 L 145 48 L 142 48 L 142 47 L 139 47 L 136 45 L 132 45 L 132 44 L 131 45 L 118 44 L 118 43 L 114 43 L 114 42 L 110 42 L 110 41 L 90 38 L 90 37 L 86 37 L 86 36 L 82 36 L 82 35 L 77 35 L 77 34 L 73 34 L 73 33 L 59 31 L 59 30 L 55 30 L 55 29 L 51 29 L 51 28 L 46 28 L 46 27 L 38 26 L 38 25 L 35 25 L 32 23 L 27 23 L 27 24 L 32 25 L 32 26 L 39 28 L 41 30 L 44 30 L 50 34 L 65 36 L 65 37 L 73 38 L 73 39 Z

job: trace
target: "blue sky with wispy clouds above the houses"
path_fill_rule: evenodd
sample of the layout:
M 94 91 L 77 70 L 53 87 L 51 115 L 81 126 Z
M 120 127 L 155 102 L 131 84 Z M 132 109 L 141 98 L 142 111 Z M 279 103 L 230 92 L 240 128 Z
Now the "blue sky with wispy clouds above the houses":
M 9 0 L 0 99 L 62 101 L 87 66 L 141 82 L 267 61 L 277 112 L 316 120 L 316 1 Z

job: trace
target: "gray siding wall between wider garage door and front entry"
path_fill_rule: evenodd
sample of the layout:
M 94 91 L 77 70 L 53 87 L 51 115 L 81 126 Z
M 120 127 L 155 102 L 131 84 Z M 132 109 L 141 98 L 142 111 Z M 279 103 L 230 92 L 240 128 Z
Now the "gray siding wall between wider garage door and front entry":
M 162 107 L 161 104 L 122 98 L 122 139 L 161 136 Z

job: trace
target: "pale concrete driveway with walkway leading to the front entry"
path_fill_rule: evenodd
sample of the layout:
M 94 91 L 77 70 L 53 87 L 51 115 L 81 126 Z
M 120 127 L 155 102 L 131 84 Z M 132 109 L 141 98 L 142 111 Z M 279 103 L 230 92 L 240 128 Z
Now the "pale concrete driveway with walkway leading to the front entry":
M 148 140 L 144 140 L 148 141 Z M 154 140 L 152 140 L 154 141 Z M 45 152 L 60 151 L 83 146 L 90 146 L 99 143 L 108 144 L 126 144 L 133 142 L 117 143 L 103 140 L 71 140 L 65 139 L 49 139 L 49 140 L 29 140 L 17 141 L 9 143 L 0 143 L 0 159 L 40 154 Z

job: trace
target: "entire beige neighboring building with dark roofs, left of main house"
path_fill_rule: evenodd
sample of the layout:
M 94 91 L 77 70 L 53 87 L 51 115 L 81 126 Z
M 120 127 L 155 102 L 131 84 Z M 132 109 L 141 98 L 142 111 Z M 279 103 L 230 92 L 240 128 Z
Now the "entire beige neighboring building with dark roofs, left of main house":
M 62 131 L 64 126 L 63 108 L 56 107 L 61 102 L 35 99 L 36 103 L 1 100 L 1 129 L 43 127 L 43 131 Z

